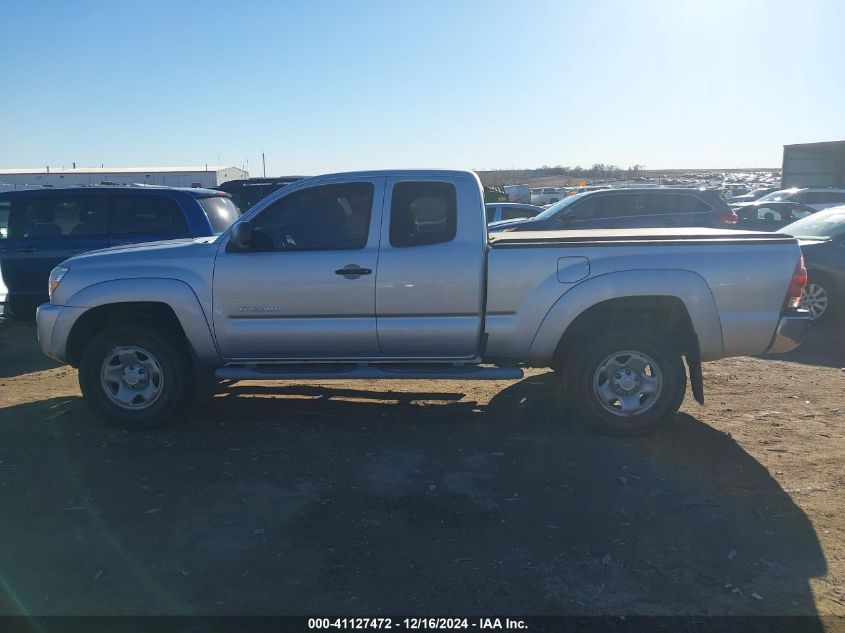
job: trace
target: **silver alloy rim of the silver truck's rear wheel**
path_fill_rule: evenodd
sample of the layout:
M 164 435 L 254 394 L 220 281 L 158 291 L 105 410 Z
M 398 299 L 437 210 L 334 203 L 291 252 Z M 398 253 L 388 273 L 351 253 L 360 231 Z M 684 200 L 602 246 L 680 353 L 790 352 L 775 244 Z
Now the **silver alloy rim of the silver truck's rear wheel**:
M 599 363 L 593 376 L 593 394 L 602 407 L 622 417 L 648 411 L 657 402 L 661 389 L 657 364 L 640 352 L 611 354 Z

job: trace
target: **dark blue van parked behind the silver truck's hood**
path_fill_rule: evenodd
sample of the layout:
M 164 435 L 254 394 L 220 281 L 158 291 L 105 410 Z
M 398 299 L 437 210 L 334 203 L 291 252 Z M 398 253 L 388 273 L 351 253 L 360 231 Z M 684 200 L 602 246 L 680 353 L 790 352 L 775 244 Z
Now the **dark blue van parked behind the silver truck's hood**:
M 238 218 L 228 194 L 152 186 L 0 193 L 0 270 L 7 312 L 32 316 L 47 277 L 77 253 L 137 242 L 219 235 Z

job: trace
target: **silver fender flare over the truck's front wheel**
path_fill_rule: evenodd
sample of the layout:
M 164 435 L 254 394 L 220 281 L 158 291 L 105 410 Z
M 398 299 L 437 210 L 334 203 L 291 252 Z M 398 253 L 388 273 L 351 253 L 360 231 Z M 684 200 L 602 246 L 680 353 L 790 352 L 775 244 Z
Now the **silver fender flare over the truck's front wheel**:
M 203 363 L 216 365 L 220 355 L 214 342 L 211 326 L 196 293 L 190 285 L 179 279 L 133 278 L 112 279 L 86 286 L 74 293 L 66 302 L 67 307 L 80 310 L 67 311 L 67 321 L 59 317 L 54 332 L 70 335 L 73 324 L 88 310 L 113 303 L 163 303 L 173 310 L 189 348 Z

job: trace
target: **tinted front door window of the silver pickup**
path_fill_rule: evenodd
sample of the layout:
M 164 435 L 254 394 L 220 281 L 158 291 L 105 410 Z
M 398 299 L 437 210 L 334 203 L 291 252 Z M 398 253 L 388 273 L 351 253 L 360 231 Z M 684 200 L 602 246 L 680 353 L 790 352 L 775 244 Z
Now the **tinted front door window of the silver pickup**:
M 358 250 L 367 245 L 375 187 L 311 187 L 279 198 L 253 221 L 253 250 Z

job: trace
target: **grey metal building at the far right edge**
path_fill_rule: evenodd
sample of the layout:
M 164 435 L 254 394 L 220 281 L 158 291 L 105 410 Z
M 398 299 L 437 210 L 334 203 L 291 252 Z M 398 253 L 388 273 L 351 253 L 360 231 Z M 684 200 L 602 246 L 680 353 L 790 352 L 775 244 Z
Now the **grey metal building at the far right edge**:
M 845 187 L 845 141 L 783 146 L 784 187 Z

